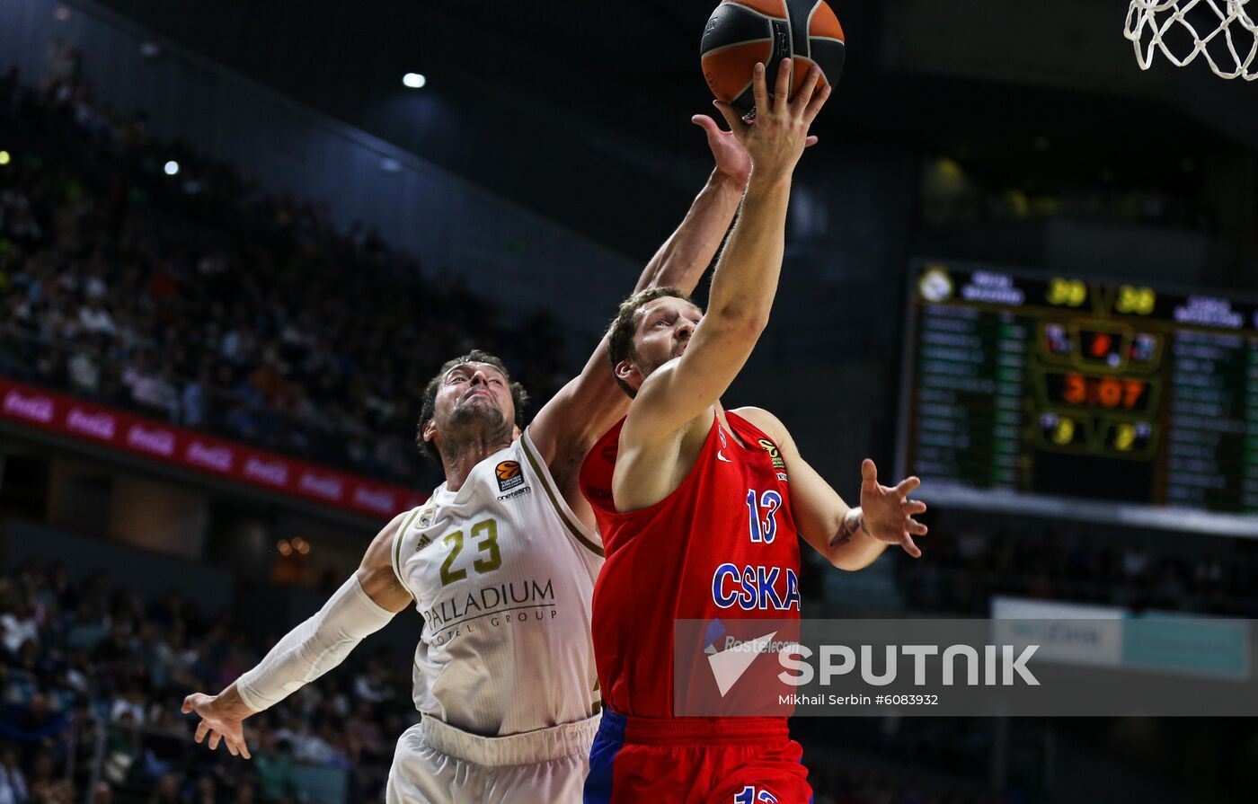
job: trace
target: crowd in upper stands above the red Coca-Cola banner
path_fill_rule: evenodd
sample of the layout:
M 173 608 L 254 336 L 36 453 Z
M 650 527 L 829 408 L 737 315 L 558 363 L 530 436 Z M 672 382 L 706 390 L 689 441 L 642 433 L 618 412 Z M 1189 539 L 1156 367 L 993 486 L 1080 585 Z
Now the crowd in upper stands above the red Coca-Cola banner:
M 157 141 L 63 62 L 0 78 L 0 374 L 415 487 L 450 356 L 501 352 L 540 401 L 564 381 L 554 318 L 503 323 L 455 267 Z

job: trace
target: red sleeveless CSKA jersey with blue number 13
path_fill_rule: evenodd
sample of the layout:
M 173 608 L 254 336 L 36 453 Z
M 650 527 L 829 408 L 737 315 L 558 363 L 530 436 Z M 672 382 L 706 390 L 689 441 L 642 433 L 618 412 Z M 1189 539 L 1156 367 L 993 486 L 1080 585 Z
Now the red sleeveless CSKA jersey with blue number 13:
M 620 513 L 611 500 L 623 420 L 581 466 L 606 552 L 593 630 L 603 698 L 615 712 L 674 716 L 674 620 L 706 620 L 710 638 L 723 633 L 722 618 L 798 627 L 800 556 L 786 466 L 759 428 L 725 415 L 733 433 L 717 416 L 689 474 L 650 507 Z M 703 659 L 702 650 L 694 656 Z M 702 671 L 688 677 L 715 687 Z

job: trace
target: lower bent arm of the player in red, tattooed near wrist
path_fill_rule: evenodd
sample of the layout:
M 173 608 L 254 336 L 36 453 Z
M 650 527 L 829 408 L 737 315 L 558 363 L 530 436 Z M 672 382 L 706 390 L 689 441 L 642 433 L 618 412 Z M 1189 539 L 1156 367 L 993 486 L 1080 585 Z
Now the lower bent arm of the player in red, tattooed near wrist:
M 916 477 L 888 487 L 878 483 L 878 469 L 866 458 L 860 466 L 860 507 L 843 502 L 829 483 L 804 461 L 786 427 L 760 408 L 736 411 L 760 428 L 777 444 L 790 476 L 791 513 L 799 535 L 842 570 L 862 570 L 882 555 L 887 545 L 899 545 L 920 559 L 922 551 L 913 536 L 925 536 L 926 526 L 913 518 L 926 511 L 926 503 L 908 500 L 921 481 Z

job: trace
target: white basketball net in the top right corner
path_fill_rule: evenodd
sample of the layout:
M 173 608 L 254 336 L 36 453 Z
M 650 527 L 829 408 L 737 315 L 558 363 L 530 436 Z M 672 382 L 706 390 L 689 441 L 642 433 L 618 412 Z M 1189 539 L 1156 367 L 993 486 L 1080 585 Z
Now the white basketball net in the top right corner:
M 1258 25 L 1245 13 L 1250 1 L 1258 14 L 1258 0 L 1131 0 L 1123 33 L 1136 48 L 1140 69 L 1149 69 L 1155 50 L 1161 50 L 1176 67 L 1200 55 L 1216 75 L 1255 81 Z

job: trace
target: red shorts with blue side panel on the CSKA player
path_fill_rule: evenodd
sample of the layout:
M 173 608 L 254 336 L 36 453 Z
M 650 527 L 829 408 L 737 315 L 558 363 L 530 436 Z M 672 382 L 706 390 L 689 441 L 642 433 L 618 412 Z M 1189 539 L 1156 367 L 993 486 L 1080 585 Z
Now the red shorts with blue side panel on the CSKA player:
M 809 804 L 803 754 L 780 718 L 655 720 L 604 710 L 585 804 Z

